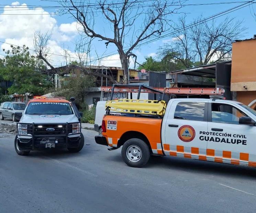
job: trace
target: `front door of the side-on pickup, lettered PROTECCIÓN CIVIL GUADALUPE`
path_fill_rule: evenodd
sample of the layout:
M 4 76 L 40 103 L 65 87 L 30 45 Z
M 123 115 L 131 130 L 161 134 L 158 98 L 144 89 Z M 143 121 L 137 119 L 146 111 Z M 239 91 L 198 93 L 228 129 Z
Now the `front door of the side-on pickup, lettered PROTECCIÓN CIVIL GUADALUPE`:
M 208 135 L 201 134 L 200 139 L 207 141 L 207 150 L 211 153 L 209 158 L 240 165 L 256 162 L 256 126 L 239 124 L 241 116 L 248 116 L 246 111 L 215 101 L 209 102 L 208 113 Z

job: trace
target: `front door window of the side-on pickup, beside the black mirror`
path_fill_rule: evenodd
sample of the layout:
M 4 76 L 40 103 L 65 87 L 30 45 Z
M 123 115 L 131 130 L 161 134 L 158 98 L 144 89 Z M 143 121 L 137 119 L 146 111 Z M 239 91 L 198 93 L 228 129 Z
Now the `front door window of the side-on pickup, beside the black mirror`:
M 229 104 L 212 103 L 212 122 L 239 124 L 241 116 L 247 116 L 242 111 Z

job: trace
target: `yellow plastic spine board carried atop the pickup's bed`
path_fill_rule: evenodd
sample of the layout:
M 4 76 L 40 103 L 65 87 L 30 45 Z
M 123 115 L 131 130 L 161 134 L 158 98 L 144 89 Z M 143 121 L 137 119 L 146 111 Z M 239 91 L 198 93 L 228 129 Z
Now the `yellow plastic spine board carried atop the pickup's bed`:
M 135 113 L 148 115 L 164 115 L 165 101 L 120 99 L 107 101 L 105 107 L 120 113 Z

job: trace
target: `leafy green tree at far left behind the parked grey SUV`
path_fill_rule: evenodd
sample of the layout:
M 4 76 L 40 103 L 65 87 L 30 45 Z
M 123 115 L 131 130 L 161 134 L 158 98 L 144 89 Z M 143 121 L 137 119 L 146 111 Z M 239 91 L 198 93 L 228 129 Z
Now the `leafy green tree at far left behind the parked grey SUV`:
M 45 70 L 42 60 L 30 54 L 29 48 L 14 47 L 11 50 L 3 50 L 6 56 L 0 62 L 0 76 L 4 80 L 12 81 L 8 88 L 9 94 L 31 93 L 43 95 L 45 90 L 52 86 L 52 82 L 43 75 Z

